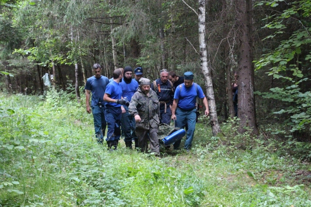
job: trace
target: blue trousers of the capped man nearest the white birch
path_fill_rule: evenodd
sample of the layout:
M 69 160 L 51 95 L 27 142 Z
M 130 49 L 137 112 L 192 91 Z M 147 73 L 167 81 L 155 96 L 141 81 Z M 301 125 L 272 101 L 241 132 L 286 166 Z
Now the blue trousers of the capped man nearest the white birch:
M 196 109 L 190 109 L 190 110 L 183 110 L 181 108 L 176 108 L 176 124 L 177 127 L 183 129 L 186 126 L 186 123 L 188 124 L 188 130 L 187 130 L 187 138 L 185 141 L 185 147 L 184 149 L 190 149 L 191 148 L 191 142 L 194 135 L 195 130 L 195 120 L 196 120 Z M 179 148 L 181 140 L 176 141 L 173 146 L 174 149 Z

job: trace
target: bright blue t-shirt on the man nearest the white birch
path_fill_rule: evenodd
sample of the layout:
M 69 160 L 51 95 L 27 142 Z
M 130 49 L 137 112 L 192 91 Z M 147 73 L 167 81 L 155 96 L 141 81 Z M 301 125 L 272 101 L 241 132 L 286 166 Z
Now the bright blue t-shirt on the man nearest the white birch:
M 205 97 L 202 88 L 197 84 L 198 93 L 196 92 L 195 84 L 196 83 L 193 83 L 190 87 L 186 87 L 185 84 L 181 84 L 176 88 L 174 99 L 178 99 L 177 106 L 179 108 L 184 110 L 193 109 L 195 108 L 196 97 L 199 97 L 200 99 Z

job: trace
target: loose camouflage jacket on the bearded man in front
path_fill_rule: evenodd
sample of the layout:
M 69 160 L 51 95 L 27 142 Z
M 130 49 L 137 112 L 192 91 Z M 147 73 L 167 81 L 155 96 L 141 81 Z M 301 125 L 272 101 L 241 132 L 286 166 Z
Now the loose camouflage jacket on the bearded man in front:
M 159 100 L 152 89 L 149 90 L 149 96 L 146 96 L 138 87 L 132 96 L 128 111 L 133 117 L 140 116 L 141 121 L 136 123 L 138 129 L 157 128 L 160 123 Z

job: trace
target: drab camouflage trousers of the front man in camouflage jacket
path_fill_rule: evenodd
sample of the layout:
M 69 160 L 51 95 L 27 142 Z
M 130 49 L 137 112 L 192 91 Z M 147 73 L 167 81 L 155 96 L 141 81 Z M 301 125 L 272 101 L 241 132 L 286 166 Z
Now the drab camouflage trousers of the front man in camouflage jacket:
M 136 136 L 138 137 L 138 147 L 141 152 L 148 152 L 148 134 L 150 141 L 150 149 L 152 153 L 160 154 L 159 140 L 157 138 L 157 128 L 155 129 L 138 129 L 136 128 Z

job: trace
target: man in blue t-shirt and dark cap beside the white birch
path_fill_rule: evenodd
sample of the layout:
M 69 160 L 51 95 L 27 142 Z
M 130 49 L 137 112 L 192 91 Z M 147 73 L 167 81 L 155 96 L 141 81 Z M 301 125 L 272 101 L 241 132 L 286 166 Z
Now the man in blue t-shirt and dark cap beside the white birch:
M 172 119 L 176 120 L 177 127 L 181 129 L 185 128 L 188 123 L 187 138 L 185 141 L 184 149 L 187 152 L 190 151 L 191 142 L 195 130 L 195 120 L 196 120 L 196 98 L 199 97 L 203 101 L 205 106 L 205 115 L 208 116 L 208 103 L 202 88 L 193 83 L 193 73 L 185 72 L 184 74 L 184 84 L 179 85 L 174 94 L 174 102 L 172 107 Z M 173 146 L 174 149 L 178 149 L 180 141 L 176 141 Z

